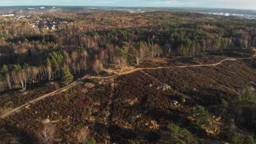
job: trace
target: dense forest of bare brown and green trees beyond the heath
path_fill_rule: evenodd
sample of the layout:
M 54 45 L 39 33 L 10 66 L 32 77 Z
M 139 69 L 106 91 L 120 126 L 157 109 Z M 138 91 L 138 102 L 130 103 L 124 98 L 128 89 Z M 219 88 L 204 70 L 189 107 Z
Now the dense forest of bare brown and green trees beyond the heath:
M 28 23 L 59 20 L 57 29 Z M 155 12 L 33 15 L 0 20 L 0 91 L 96 73 L 109 64 L 139 65 L 159 56 L 191 57 L 256 47 L 256 22 L 232 16 Z

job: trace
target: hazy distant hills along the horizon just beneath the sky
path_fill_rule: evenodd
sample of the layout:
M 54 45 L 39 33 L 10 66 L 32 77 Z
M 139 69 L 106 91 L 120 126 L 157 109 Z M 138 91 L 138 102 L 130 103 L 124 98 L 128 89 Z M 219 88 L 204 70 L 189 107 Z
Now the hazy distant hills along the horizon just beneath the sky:
M 40 9 L 44 7 L 45 9 Z M 55 7 L 55 8 L 53 8 Z M 33 10 L 28 8 L 34 8 Z M 55 6 L 55 5 L 21 5 L 0 7 L 0 14 L 13 13 L 16 15 L 57 14 L 57 13 L 95 13 L 100 11 L 118 10 L 133 12 L 141 11 L 189 11 L 196 13 L 230 13 L 256 15 L 255 10 L 220 9 L 220 8 L 178 8 L 178 7 L 92 7 L 92 6 Z

